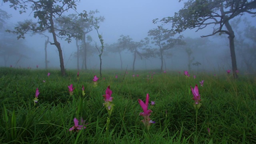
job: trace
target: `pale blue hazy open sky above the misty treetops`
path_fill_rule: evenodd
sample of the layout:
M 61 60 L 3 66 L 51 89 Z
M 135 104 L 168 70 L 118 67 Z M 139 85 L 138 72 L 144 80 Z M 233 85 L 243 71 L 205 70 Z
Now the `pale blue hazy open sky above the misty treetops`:
M 110 44 L 116 42 L 122 34 L 130 35 L 134 41 L 145 38 L 148 30 L 157 26 L 152 23 L 153 19 L 173 16 L 174 12 L 182 7 L 183 2 L 178 0 L 81 0 L 77 12 L 97 9 L 99 15 L 106 19 L 100 24 L 99 32 L 103 34 L 104 41 Z M 27 10 L 26 14 L 19 14 L 18 10 L 9 8 L 8 3 L 2 3 L 0 8 L 12 14 L 13 24 L 25 19 L 34 19 L 31 10 Z M 70 10 L 68 13 L 75 12 Z M 96 34 L 91 32 L 90 35 Z M 200 33 L 196 35 L 200 36 Z

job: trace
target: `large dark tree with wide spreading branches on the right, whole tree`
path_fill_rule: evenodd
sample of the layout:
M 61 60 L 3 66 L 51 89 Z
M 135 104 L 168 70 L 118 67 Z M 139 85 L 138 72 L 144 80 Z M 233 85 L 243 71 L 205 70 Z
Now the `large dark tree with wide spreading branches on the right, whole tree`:
M 174 16 L 163 18 L 160 21 L 164 24 L 171 22 L 172 28 L 178 33 L 193 28 L 197 28 L 196 31 L 198 31 L 207 26 L 214 25 L 212 34 L 206 36 L 212 36 L 217 33 L 227 34 L 230 45 L 232 72 L 234 78 L 238 78 L 234 46 L 235 35 L 230 25 L 230 20 L 236 16 L 242 16 L 244 13 L 255 16 L 255 8 L 255 0 L 188 0 L 188 2 L 184 2 L 184 8 L 176 12 Z M 153 20 L 154 23 L 157 21 L 158 19 Z

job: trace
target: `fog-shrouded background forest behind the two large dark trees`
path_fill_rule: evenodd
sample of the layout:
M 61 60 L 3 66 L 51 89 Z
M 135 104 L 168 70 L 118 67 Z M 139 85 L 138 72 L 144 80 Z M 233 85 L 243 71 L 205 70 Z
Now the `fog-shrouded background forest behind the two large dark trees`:
M 2 3 L 0 8 L 4 6 L 6 9 L 9 5 L 10 3 Z M 33 14 L 26 17 L 25 10 L 31 11 L 29 7 L 28 9 L 22 9 L 18 5 L 13 7 L 18 10 L 0 9 L 0 56 L 2 58 L 0 66 L 34 69 L 38 65 L 39 68 L 59 69 L 58 49 L 54 46 L 50 27 L 46 27 L 49 22 L 44 26 L 40 14 L 37 16 L 34 14 L 36 18 L 32 18 Z M 9 14 L 9 11 L 15 12 L 15 16 L 24 16 L 25 20 L 13 22 L 15 18 Z M 251 14 L 243 13 L 230 20 L 235 33 L 236 62 L 240 72 L 255 72 L 256 27 L 254 19 Z M 53 20 L 65 69 L 99 69 L 101 42 L 98 36 L 102 36 L 104 40 L 107 35 L 101 30 L 106 20 L 104 13 L 100 10 L 88 10 L 81 13 L 70 10 L 62 13 L 61 16 L 54 16 Z M 137 23 L 139 27 L 140 22 Z M 37 27 L 38 29 L 35 30 L 32 27 L 33 24 L 44 27 Z M 128 70 L 193 70 L 214 71 L 217 74 L 232 69 L 228 35 L 219 33 L 201 38 L 196 36 L 195 30 L 190 30 L 190 33 L 195 33 L 195 37 L 192 37 L 182 32 L 174 33 L 171 30 L 172 26 L 168 24 L 158 22 L 154 26 L 155 28 L 148 29 L 144 37 L 139 39 L 132 38 L 124 32 L 118 35 L 115 41 L 104 41 L 102 68 L 126 69 L 128 66 Z M 205 31 L 207 35 L 212 29 L 214 28 L 209 26 L 208 29 L 201 31 Z M 140 34 L 139 31 L 135 32 L 135 35 L 136 33 Z M 161 44 L 158 43 L 157 36 L 159 35 L 157 34 L 162 34 Z M 160 46 L 162 46 L 162 51 Z

